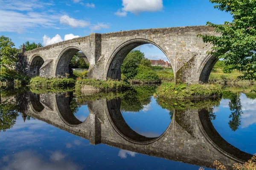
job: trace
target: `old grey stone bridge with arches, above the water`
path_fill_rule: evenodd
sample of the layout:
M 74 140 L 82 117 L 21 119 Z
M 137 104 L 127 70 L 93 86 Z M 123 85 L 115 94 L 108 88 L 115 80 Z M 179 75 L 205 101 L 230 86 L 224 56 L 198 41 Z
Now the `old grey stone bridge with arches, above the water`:
M 212 45 L 198 38 L 199 33 L 215 34 L 208 26 L 93 33 L 31 51 L 23 50 L 23 54 L 30 76 L 64 77 L 65 73 L 70 73 L 70 59 L 82 51 L 90 62 L 88 78 L 119 79 L 120 66 L 126 55 L 140 45 L 153 44 L 169 59 L 176 82 L 207 82 L 217 59 L 207 54 Z

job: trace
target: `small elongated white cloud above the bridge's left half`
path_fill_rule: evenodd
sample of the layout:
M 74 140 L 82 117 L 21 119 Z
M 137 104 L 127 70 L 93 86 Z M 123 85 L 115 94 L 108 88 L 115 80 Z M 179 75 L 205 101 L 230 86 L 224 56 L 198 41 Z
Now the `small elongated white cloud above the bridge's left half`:
M 74 18 L 70 18 L 67 15 L 63 15 L 60 18 L 60 23 L 61 24 L 65 24 L 68 26 L 71 26 L 72 28 L 76 28 L 76 27 L 87 27 L 90 26 L 90 23 L 84 20 L 76 20 Z

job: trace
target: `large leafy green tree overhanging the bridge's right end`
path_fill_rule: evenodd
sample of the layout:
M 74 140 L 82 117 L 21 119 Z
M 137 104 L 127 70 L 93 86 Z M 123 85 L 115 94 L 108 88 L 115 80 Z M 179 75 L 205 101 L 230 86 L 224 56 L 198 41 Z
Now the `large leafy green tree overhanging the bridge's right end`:
M 244 73 L 240 78 L 256 80 L 256 0 L 209 0 L 214 8 L 230 12 L 232 22 L 218 25 L 207 22 L 219 36 L 198 34 L 213 44 L 209 54 L 223 58 L 229 70 Z

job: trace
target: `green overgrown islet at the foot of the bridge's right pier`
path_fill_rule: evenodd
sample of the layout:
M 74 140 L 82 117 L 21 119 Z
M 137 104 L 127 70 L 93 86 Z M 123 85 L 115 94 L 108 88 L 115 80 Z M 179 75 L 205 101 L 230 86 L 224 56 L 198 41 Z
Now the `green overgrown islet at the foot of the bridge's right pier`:
M 206 99 L 218 98 L 222 91 L 217 85 L 163 83 L 157 89 L 157 95 L 169 99 Z

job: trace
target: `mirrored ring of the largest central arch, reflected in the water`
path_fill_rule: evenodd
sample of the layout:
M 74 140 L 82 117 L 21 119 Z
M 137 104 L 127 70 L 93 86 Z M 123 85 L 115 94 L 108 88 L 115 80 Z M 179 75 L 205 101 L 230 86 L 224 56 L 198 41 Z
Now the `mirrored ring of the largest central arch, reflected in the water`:
M 128 124 L 125 122 L 125 119 L 123 118 L 122 113 L 120 111 L 120 106 L 121 106 L 120 98 L 106 101 L 106 103 L 107 103 L 106 113 L 107 113 L 108 120 L 111 123 L 111 126 L 116 131 L 116 133 L 119 134 L 119 136 L 121 136 L 123 139 L 131 143 L 135 143 L 135 144 L 154 143 L 157 140 L 161 139 L 166 134 L 166 132 L 168 132 L 169 128 L 172 125 L 172 121 L 171 121 L 169 126 L 166 128 L 166 130 L 158 137 L 146 137 L 132 130 L 131 127 L 129 127 Z

